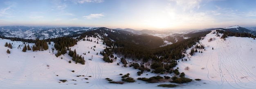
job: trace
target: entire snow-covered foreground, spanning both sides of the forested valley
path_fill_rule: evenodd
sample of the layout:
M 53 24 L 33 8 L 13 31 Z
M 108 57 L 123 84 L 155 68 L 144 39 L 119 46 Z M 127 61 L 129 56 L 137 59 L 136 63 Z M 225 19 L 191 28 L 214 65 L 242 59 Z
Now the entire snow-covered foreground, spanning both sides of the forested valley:
M 228 37 L 223 40 L 215 35 L 207 34 L 204 40 L 200 40 L 200 44 L 205 46 L 205 51 L 200 49 L 202 53 L 197 52 L 193 56 L 186 55 L 187 61 L 180 59 L 177 65 L 179 71 L 186 74 L 185 77 L 202 80 L 177 84 L 179 86 L 175 88 L 255 89 L 256 40 L 240 37 Z M 210 38 L 215 39 L 208 42 Z M 77 54 L 85 57 L 85 65 L 75 64 L 67 54 L 56 57 L 57 51 L 52 52 L 53 42 L 49 44 L 47 51 L 22 52 L 24 46 L 22 42 L 0 39 L 0 89 L 168 89 L 157 87 L 157 85 L 175 84 L 146 83 L 137 80 L 139 77 L 149 78 L 157 75 L 171 77 L 172 75 L 144 72 L 141 76 L 137 76 L 139 70 L 123 67 L 119 57 L 113 63 L 106 63 L 102 59 L 103 56 L 99 54 L 106 45 L 103 45 L 103 41 L 97 38 L 91 37 L 90 39 L 92 42 L 81 40 L 71 47 L 72 50 L 76 49 Z M 12 43 L 13 48 L 4 47 L 5 42 Z M 18 48 L 19 45 L 21 45 L 20 48 Z M 33 46 L 33 44 L 29 45 Z M 7 49 L 11 51 L 10 54 L 7 54 Z M 187 53 L 189 51 L 190 49 Z M 71 64 L 68 63 L 70 60 Z M 189 67 L 189 70 L 184 70 L 185 67 Z M 127 73 L 135 78 L 135 83 L 110 84 L 105 79 L 121 81 L 119 74 Z M 67 80 L 67 82 L 63 83 L 59 80 Z

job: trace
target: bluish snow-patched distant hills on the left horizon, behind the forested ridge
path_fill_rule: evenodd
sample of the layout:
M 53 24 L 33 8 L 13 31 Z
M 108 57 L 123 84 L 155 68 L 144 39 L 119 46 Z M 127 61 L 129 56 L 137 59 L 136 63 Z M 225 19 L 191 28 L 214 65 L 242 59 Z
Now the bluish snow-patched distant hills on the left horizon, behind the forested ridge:
M 47 39 L 73 34 L 83 33 L 97 28 L 81 28 L 81 27 L 67 27 L 67 28 L 49 28 L 49 27 L 28 27 L 28 26 L 1 26 L 0 35 L 5 37 L 17 37 L 24 39 Z

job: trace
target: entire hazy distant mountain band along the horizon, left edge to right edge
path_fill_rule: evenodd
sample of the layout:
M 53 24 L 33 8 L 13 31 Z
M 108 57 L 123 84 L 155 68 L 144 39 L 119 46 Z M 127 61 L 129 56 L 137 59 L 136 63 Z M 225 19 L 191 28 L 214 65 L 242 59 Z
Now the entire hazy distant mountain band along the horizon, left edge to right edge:
M 4 37 L 17 37 L 24 39 L 47 39 L 47 38 L 57 38 L 62 36 L 72 36 L 76 34 L 81 34 L 87 31 L 101 29 L 98 28 L 88 28 L 88 27 L 66 27 L 66 28 L 52 28 L 52 27 L 29 27 L 29 26 L 1 26 L 0 27 L 0 35 Z M 110 28 L 107 28 L 110 29 Z M 133 30 L 130 28 L 121 29 L 110 29 L 115 30 L 124 34 L 131 35 L 141 35 L 141 36 L 157 36 L 162 38 L 163 40 L 167 40 L 168 42 L 178 42 L 187 38 L 194 37 L 194 33 L 211 31 L 216 29 L 222 29 L 229 32 L 249 32 L 252 34 L 256 34 L 256 30 L 254 28 L 242 28 L 238 25 L 230 26 L 227 28 L 211 28 L 204 30 L 196 30 L 189 32 L 171 32 L 171 31 L 155 31 L 155 30 Z M 256 28 L 255 28 L 256 29 Z M 199 35 L 199 34 L 198 34 Z

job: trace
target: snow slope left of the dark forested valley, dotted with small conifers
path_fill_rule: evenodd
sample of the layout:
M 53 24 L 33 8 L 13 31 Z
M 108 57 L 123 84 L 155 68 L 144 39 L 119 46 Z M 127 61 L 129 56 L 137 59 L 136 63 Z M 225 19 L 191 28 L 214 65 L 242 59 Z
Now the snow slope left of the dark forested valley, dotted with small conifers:
M 76 49 L 77 54 L 85 57 L 85 65 L 75 64 L 67 54 L 56 57 L 55 54 L 57 51 L 54 50 L 52 52 L 51 49 L 54 47 L 53 42 L 49 44 L 47 51 L 22 52 L 22 48 L 24 47 L 22 42 L 0 39 L 0 88 L 70 89 L 72 87 L 76 89 L 162 89 L 162 87 L 157 87 L 159 83 L 147 84 L 143 81 L 125 83 L 123 85 L 108 83 L 105 78 L 113 79 L 113 81 L 121 81 L 121 75 L 119 74 L 130 73 L 130 77 L 132 78 L 152 77 L 157 74 L 148 72 L 141 74 L 142 76 L 137 76 L 139 70 L 123 67 L 119 57 L 113 63 L 104 62 L 102 59 L 103 56 L 99 54 L 106 47 L 106 45 L 102 44 L 103 40 L 93 37 L 89 39 L 92 42 L 81 40 L 77 45 L 71 47 L 72 50 Z M 97 41 L 99 44 L 97 44 Z M 5 42 L 12 43 L 13 48 L 4 47 Z M 18 45 L 21 45 L 21 47 L 18 48 Z M 32 43 L 29 45 L 33 46 Z M 10 54 L 7 54 L 7 49 L 11 51 Z M 88 53 L 89 51 L 90 53 Z M 70 60 L 72 61 L 71 64 L 68 63 Z M 67 82 L 63 83 L 59 80 L 67 80 Z

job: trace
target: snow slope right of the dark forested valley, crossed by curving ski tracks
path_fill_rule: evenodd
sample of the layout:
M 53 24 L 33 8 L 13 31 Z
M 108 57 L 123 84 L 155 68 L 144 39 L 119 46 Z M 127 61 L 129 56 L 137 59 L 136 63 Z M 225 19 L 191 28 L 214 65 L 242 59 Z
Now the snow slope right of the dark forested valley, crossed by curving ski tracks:
M 210 38 L 216 39 L 209 42 Z M 197 89 L 255 89 L 256 40 L 241 37 L 223 40 L 216 34 L 207 34 L 200 44 L 205 46 L 205 51 L 200 49 L 198 51 L 202 53 L 186 55 L 188 61 L 182 61 L 177 66 L 186 77 L 202 79 L 204 84 Z M 184 70 L 185 67 L 190 70 Z

